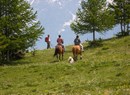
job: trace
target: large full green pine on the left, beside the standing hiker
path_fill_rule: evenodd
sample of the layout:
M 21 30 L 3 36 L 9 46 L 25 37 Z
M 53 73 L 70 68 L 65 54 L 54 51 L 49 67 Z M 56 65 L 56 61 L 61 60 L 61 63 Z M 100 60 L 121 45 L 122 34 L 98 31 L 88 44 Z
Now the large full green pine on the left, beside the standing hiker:
M 37 12 L 24 0 L 0 0 L 0 32 L 7 47 L 0 51 L 5 61 L 10 61 L 18 50 L 26 50 L 35 45 L 44 28 L 36 20 Z M 1 42 L 1 40 L 0 40 Z

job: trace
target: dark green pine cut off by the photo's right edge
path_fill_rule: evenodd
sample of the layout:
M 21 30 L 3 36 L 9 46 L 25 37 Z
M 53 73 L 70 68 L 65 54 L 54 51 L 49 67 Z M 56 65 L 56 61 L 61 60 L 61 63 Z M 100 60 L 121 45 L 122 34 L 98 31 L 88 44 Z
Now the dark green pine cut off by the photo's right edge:
M 114 0 L 110 5 L 115 13 L 116 24 L 120 24 L 120 36 L 129 35 L 130 28 L 130 1 L 129 0 Z

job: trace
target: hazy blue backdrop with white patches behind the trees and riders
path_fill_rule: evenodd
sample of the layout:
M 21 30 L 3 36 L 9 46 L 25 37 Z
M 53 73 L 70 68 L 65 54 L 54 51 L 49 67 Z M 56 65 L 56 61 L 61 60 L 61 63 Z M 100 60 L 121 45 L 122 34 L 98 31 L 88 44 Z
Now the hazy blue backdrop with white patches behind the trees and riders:
M 81 0 L 26 0 L 37 11 L 37 20 L 45 28 L 42 39 L 36 43 L 35 49 L 46 49 L 45 37 L 50 34 L 51 47 L 56 46 L 56 39 L 60 34 L 64 39 L 64 45 L 72 45 L 76 34 L 71 30 L 70 23 L 75 19 L 77 9 L 80 7 Z M 112 0 L 107 0 L 112 2 Z M 111 38 L 119 31 L 115 27 L 106 33 L 96 34 L 96 38 Z M 92 40 L 92 34 L 79 35 L 81 42 Z

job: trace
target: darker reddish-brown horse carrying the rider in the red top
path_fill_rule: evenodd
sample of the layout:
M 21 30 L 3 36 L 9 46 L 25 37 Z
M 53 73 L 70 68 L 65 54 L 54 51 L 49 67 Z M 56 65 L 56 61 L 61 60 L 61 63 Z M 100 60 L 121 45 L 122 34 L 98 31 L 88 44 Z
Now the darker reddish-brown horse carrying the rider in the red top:
M 61 60 L 61 57 L 62 57 L 62 60 L 63 60 L 63 55 L 64 55 L 64 49 L 62 45 L 57 45 L 55 48 L 54 56 L 56 56 L 58 60 Z

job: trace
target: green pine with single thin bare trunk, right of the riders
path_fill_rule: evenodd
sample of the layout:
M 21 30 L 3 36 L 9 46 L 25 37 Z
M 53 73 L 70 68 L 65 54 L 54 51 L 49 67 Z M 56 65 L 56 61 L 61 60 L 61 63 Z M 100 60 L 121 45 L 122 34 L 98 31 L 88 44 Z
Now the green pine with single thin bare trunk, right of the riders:
M 114 24 L 114 16 L 106 7 L 106 0 L 83 0 L 76 16 L 71 29 L 76 34 L 93 33 L 93 41 L 95 32 L 103 33 Z

